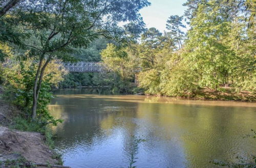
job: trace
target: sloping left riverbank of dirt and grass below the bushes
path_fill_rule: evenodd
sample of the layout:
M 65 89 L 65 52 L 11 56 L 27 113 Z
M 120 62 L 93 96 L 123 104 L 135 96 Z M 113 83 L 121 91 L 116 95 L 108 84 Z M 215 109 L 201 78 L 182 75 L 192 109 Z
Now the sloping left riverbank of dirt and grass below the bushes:
M 22 111 L 2 100 L 1 93 L 0 167 L 66 167 L 53 150 L 50 130 L 35 132 L 36 126 L 26 123 Z

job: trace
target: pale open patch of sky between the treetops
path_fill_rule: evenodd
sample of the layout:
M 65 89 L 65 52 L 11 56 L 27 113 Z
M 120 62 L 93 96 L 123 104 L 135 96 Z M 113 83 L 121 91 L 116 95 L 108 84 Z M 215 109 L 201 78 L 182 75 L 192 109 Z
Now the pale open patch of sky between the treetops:
M 168 17 L 181 16 L 186 9 L 182 6 L 186 0 L 148 0 L 148 2 L 151 2 L 151 6 L 141 9 L 140 14 L 147 28 L 156 27 L 162 33 L 166 31 L 165 24 Z

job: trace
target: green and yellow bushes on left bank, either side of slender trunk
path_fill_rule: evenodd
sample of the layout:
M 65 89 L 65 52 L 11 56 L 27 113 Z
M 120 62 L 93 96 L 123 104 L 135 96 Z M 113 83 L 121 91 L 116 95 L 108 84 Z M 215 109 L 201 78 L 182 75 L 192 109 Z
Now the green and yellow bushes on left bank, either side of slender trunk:
M 32 60 L 24 62 L 9 62 L 3 64 L 2 82 L 5 86 L 4 98 L 15 104 L 24 112 L 23 116 L 30 119 L 30 109 L 33 103 L 33 83 L 37 64 Z M 51 87 L 57 86 L 58 82 L 63 80 L 67 74 L 61 65 L 52 62 L 45 71 L 45 77 L 42 81 L 40 95 L 38 97 L 37 119 L 40 125 L 52 123 L 57 124 L 49 113 L 47 105 L 50 103 L 53 95 Z

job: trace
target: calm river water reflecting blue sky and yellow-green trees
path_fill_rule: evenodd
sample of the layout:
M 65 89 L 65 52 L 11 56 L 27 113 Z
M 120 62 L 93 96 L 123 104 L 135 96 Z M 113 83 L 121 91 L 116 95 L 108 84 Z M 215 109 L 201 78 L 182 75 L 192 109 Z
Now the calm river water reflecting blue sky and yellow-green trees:
M 134 138 L 137 167 L 214 167 L 256 155 L 256 104 L 145 96 L 88 95 L 60 90 L 49 106 L 56 150 L 71 167 L 127 167 Z

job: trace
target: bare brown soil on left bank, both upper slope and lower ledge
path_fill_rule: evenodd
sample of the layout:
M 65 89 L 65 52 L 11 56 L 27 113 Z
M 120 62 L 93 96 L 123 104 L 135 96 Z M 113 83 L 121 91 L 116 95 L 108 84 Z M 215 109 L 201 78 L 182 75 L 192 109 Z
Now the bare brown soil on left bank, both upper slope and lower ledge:
M 19 116 L 21 111 L 2 100 L 2 93 L 0 86 L 0 167 L 6 167 L 1 162 L 3 163 L 7 160 L 15 161 L 20 158 L 26 159 L 26 162 L 29 163 L 58 164 L 59 160 L 56 157 L 56 153 L 46 145 L 44 135 L 38 132 L 18 131 L 8 128 L 8 126 L 14 124 L 12 122 L 13 118 Z

